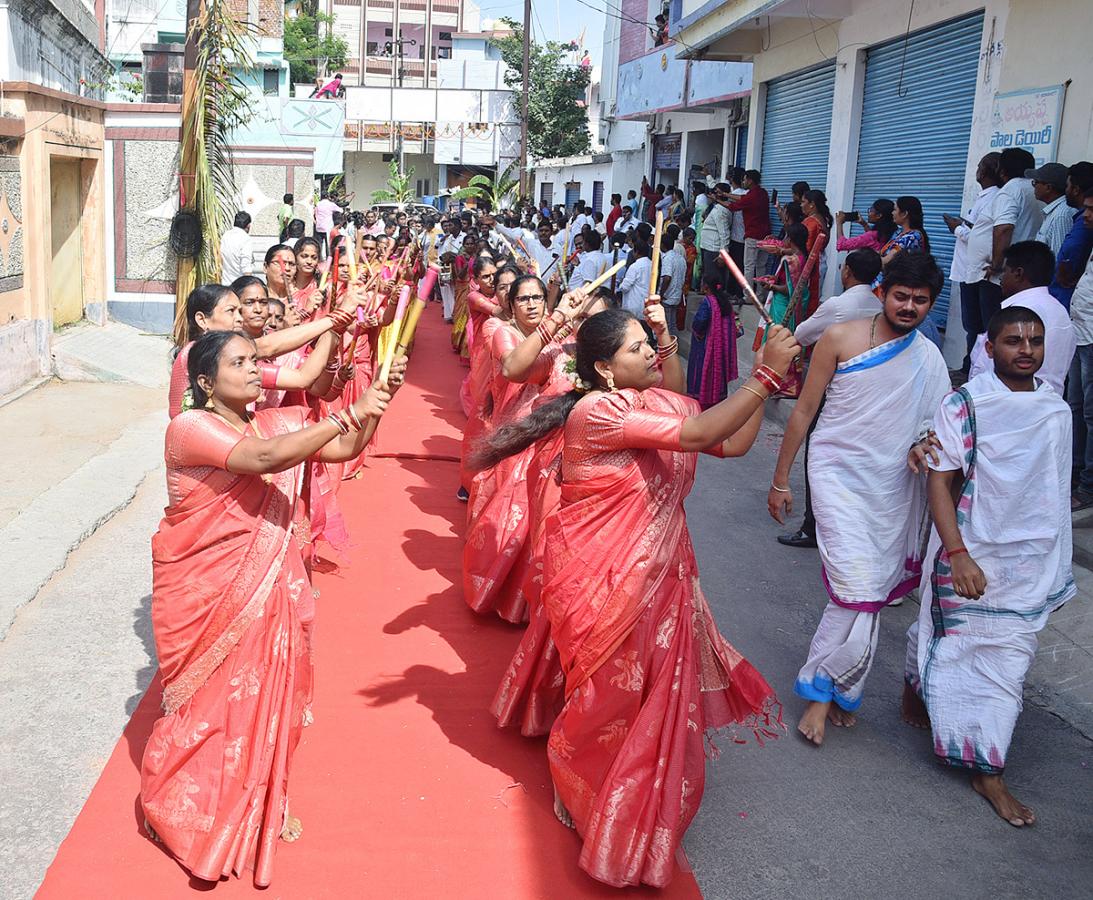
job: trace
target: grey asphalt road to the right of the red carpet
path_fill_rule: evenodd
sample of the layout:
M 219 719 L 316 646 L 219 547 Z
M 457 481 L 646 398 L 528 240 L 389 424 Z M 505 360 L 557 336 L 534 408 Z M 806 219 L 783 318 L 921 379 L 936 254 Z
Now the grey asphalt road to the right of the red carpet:
M 764 424 L 748 456 L 702 458 L 686 506 L 721 631 L 777 690 L 787 726 L 762 748 L 718 741 L 707 764 L 684 842 L 707 900 L 1093 896 L 1093 741 L 1026 702 L 1007 781 L 1038 822 L 995 816 L 965 772 L 935 761 L 928 733 L 900 721 L 916 603 L 882 613 L 858 725 L 828 727 L 821 748 L 798 736 L 792 683 L 825 594 L 816 551 L 779 545 L 766 513 L 779 440 Z M 799 465 L 792 487 L 803 503 Z

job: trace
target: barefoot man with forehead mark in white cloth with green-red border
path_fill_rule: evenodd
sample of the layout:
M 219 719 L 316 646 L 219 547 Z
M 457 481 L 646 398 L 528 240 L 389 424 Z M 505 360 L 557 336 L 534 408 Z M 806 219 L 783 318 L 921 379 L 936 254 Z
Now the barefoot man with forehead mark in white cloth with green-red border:
M 1074 596 L 1071 417 L 1036 377 L 1045 329 L 1035 312 L 997 313 L 986 347 L 994 369 L 945 397 L 935 420 L 933 533 L 907 635 L 904 718 L 929 724 L 938 758 L 971 769 L 972 786 L 1021 827 L 1036 817 L 1010 794 L 1002 770 L 1036 634 Z M 912 466 L 921 453 L 912 451 Z

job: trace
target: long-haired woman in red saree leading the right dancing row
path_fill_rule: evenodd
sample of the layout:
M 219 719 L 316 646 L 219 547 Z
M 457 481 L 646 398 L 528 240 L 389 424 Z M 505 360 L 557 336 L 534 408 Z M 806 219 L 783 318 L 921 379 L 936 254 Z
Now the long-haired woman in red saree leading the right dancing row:
M 564 424 L 542 601 L 566 702 L 548 758 L 559 818 L 584 842 L 580 867 L 616 887 L 670 880 L 702 797 L 707 732 L 780 728 L 774 691 L 713 621 L 683 500 L 698 452 L 747 453 L 798 347 L 773 327 L 765 364 L 705 411 L 657 387 L 658 358 L 683 382 L 674 348 L 661 339 L 654 351 L 625 311 L 593 316 L 577 336 L 578 389 L 490 442 L 496 456 L 519 453 Z

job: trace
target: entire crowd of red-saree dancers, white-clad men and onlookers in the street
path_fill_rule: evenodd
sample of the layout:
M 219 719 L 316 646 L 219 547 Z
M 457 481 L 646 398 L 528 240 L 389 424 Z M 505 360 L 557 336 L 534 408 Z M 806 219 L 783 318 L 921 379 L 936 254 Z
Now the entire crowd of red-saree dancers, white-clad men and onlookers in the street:
M 807 525 L 786 542 L 819 545 L 828 597 L 794 686 L 798 730 L 820 746 L 828 723 L 855 723 L 878 617 L 917 587 L 904 720 L 932 729 L 938 758 L 968 769 L 999 816 L 1032 825 L 1002 775 L 1036 634 L 1074 593 L 1071 506 L 1093 490 L 1083 470 L 1071 498 L 1086 457 L 1061 399 L 1093 383 L 1093 167 L 1026 156 L 988 154 L 986 198 L 950 222 L 974 307 L 955 390 L 963 373 L 928 326 L 944 277 L 914 197 L 833 215 L 803 183 L 779 206 L 755 171 L 696 184 L 690 203 L 644 183 L 607 217 L 579 200 L 346 213 L 325 197 L 310 236 L 286 197 L 261 277 L 238 213 L 223 283 L 190 294 L 176 334 L 169 505 L 152 545 L 165 715 L 141 768 L 150 835 L 199 879 L 254 869 L 259 886 L 277 842 L 299 839 L 290 772 L 322 665 L 312 572 L 344 563 L 339 487 L 368 477 L 422 314 L 450 324 L 467 366 L 451 385 L 467 414 L 465 599 L 526 628 L 492 712 L 546 736 L 555 811 L 589 875 L 667 884 L 709 738 L 783 730 L 776 691 L 713 620 L 683 512 L 697 454 L 749 453 L 773 397 L 797 404 L 767 505 L 779 522 L 792 512 L 803 445 Z M 841 235 L 850 221 L 865 232 Z M 843 292 L 824 299 L 833 232 L 848 255 Z M 743 302 L 764 317 L 747 373 Z

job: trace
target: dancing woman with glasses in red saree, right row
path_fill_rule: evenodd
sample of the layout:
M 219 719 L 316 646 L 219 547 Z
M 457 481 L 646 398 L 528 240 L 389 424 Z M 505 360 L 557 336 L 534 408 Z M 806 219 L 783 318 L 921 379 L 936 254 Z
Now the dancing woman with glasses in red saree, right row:
M 546 287 L 536 276 L 522 276 L 508 291 L 512 318 L 491 335 L 487 354 L 490 394 L 485 402 L 490 428 L 524 418 L 531 411 L 539 386 L 546 381 L 557 346 L 545 346 L 522 383 L 505 377 L 512 354 L 543 320 Z M 562 324 L 553 322 L 551 334 Z M 543 328 L 549 327 L 546 324 Z M 542 344 L 540 344 L 542 346 Z M 496 612 L 508 622 L 527 620 L 524 580 L 530 562 L 528 538 L 528 469 L 533 447 L 502 459 L 474 475 L 470 491 L 467 543 L 463 547 L 463 599 L 475 612 Z M 466 458 L 466 457 L 465 457 Z

